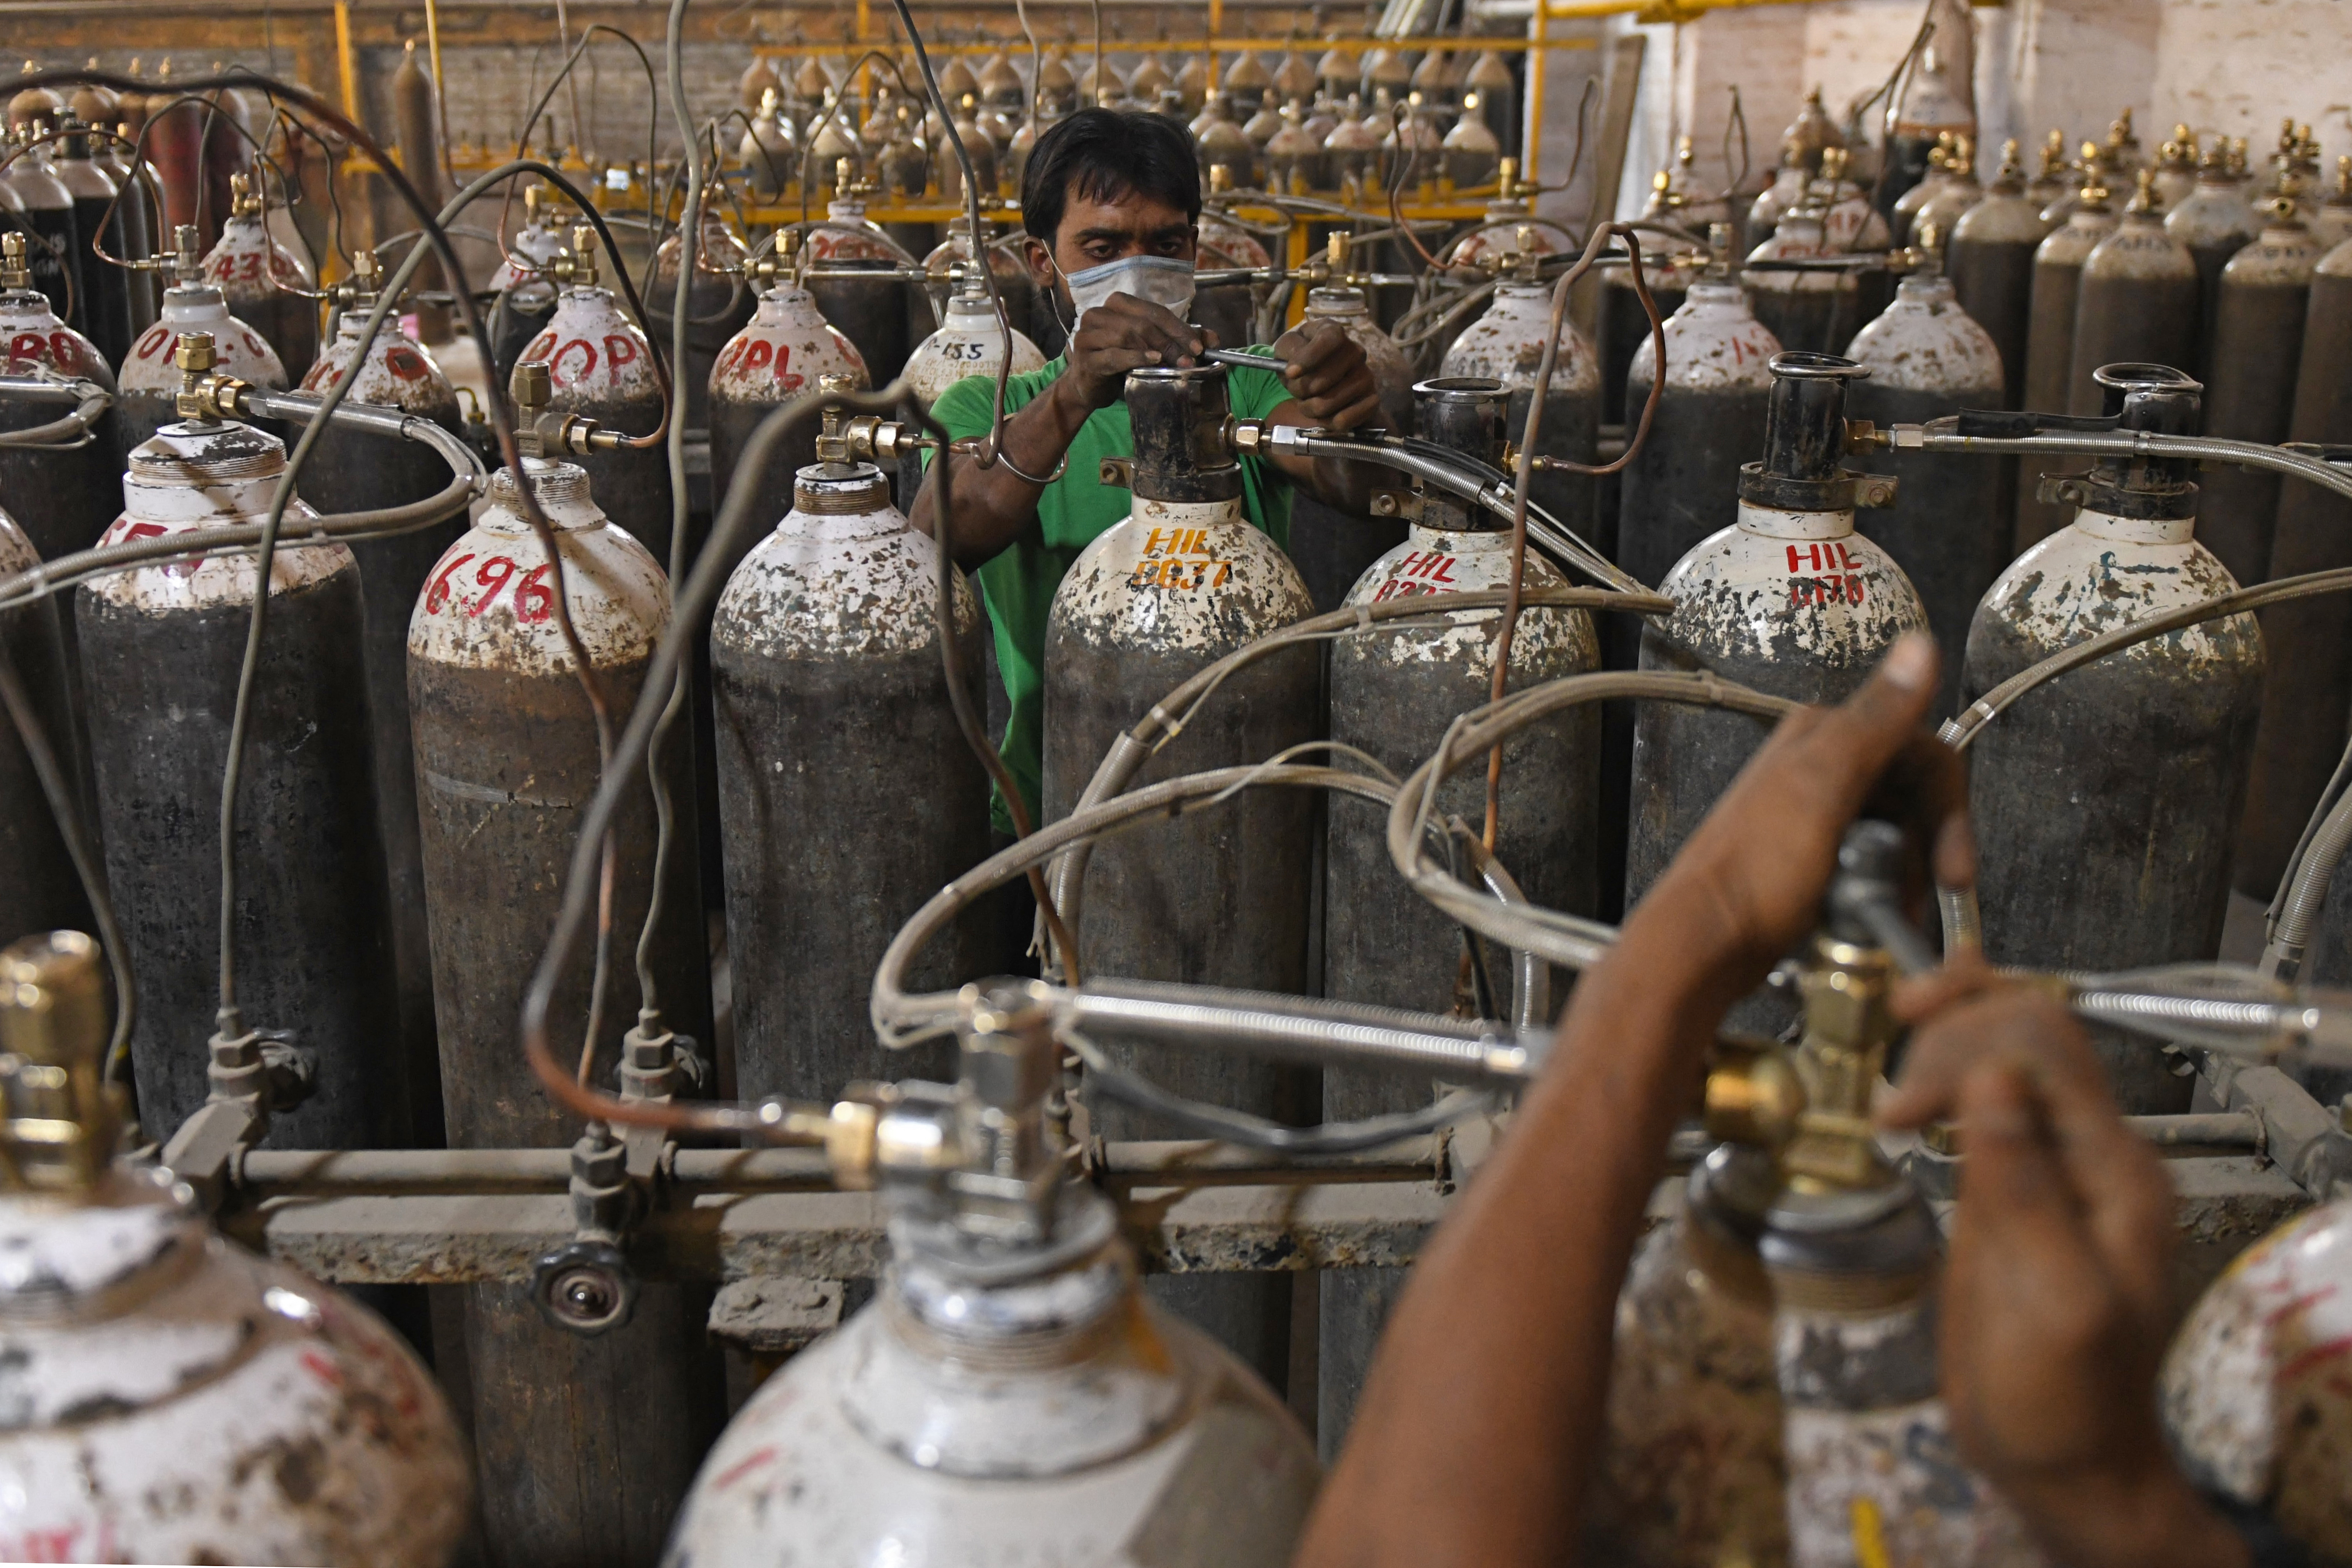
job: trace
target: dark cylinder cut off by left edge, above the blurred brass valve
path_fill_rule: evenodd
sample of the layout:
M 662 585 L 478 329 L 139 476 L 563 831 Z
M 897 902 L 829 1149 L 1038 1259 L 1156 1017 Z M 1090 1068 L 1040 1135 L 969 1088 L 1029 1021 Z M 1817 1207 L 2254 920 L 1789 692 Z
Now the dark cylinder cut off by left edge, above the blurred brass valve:
M 0 512 L 0 576 L 16 576 L 40 564 L 33 541 L 16 520 Z M 54 595 L 28 599 L 0 611 L 0 651 L 16 672 L 33 719 L 40 724 L 66 771 L 73 802 L 87 799 L 82 780 L 80 715 L 73 703 L 71 654 L 61 639 Z M 89 830 L 85 818 L 82 830 Z M 82 879 L 66 853 L 64 832 L 49 797 L 33 771 L 16 726 L 0 717 L 0 938 L 16 940 L 33 931 L 89 924 L 89 900 Z

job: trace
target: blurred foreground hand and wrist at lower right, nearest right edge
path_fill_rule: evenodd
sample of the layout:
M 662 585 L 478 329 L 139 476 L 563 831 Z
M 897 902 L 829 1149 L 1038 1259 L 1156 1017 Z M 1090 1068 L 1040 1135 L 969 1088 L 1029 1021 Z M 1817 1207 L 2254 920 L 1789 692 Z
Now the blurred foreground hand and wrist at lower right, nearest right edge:
M 2082 1025 L 1973 954 L 1896 1006 L 1938 1011 L 1879 1119 L 1957 1119 L 1964 1150 L 1938 1328 L 1962 1453 L 2053 1561 L 2244 1563 L 2164 1448 L 2173 1190 Z

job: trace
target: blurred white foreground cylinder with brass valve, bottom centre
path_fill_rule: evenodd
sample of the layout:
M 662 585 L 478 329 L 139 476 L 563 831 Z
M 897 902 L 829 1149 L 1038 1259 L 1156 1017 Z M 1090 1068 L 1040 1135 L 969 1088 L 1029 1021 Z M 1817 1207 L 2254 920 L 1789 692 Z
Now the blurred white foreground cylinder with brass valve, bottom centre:
M 1136 1288 L 1110 1201 L 1063 1180 L 1047 1013 L 1025 987 L 967 987 L 960 1081 L 898 1084 L 880 1159 L 837 1161 L 882 1190 L 889 1274 L 727 1427 L 668 1568 L 807 1549 L 993 1568 L 1289 1561 L 1315 1455 L 1244 1366 Z M 896 1168 L 901 1138 L 941 1157 Z M 981 1197 L 983 1180 L 1004 1197 Z

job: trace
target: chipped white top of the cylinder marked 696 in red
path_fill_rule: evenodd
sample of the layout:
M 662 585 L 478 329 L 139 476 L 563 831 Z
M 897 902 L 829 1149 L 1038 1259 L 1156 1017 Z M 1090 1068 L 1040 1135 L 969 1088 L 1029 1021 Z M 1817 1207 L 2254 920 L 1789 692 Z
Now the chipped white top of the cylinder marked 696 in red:
M 649 658 L 670 623 L 670 581 L 652 550 L 597 510 L 574 463 L 524 458 L 524 468 L 555 527 L 562 590 L 588 658 L 597 670 Z M 412 661 L 515 675 L 572 670 L 548 555 L 520 503 L 515 473 L 494 473 L 473 527 L 433 564 L 409 614 Z

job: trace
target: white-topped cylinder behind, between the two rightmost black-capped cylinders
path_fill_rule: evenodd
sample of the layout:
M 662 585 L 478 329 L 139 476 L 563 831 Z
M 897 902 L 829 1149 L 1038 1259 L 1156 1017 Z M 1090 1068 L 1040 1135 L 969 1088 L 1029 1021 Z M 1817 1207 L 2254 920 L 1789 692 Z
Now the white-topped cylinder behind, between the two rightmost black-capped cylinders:
M 1933 233 L 1933 223 L 1922 233 Z M 1879 428 L 1915 425 L 2002 400 L 2002 350 L 1959 308 L 1936 252 L 1896 289 L 1896 303 L 1863 327 L 1846 357 L 1870 378 L 1846 400 Z M 2009 564 L 2009 508 L 2002 463 L 1971 456 L 1886 454 L 1898 480 L 1893 505 L 1870 512 L 1863 534 L 1903 567 L 1926 625 L 1943 649 L 1936 717 L 1959 708 L 1959 661 L 1976 602 Z

